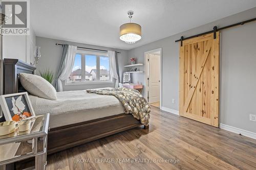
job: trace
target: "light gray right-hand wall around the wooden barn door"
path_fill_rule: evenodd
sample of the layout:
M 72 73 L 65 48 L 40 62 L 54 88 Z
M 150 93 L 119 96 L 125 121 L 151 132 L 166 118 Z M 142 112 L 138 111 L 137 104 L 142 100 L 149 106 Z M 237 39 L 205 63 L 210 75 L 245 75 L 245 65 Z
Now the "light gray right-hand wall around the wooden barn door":
M 256 8 L 232 15 L 206 25 L 170 36 L 128 52 L 144 63 L 144 52 L 162 47 L 162 106 L 179 110 L 179 43 L 188 37 L 256 16 Z M 128 59 L 129 59 L 128 58 Z M 221 123 L 256 132 L 256 123 L 249 114 L 256 114 L 256 22 L 221 31 Z M 144 82 L 144 74 L 134 74 L 133 82 Z M 172 99 L 176 100 L 172 104 Z

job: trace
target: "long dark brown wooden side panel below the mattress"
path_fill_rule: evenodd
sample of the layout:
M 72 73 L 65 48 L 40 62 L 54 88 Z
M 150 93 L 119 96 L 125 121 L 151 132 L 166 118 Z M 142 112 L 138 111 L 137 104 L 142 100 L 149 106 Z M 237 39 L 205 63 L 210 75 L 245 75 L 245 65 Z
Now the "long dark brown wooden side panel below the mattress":
M 52 154 L 92 140 L 141 126 L 131 114 L 118 114 L 50 129 L 48 151 Z

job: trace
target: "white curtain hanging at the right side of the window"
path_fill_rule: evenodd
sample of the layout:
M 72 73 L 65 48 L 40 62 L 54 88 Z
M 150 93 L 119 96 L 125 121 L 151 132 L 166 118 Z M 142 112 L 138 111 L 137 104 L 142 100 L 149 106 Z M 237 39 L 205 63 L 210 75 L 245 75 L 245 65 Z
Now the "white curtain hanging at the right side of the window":
M 117 74 L 117 67 L 116 67 L 116 52 L 108 51 L 109 58 L 110 58 L 110 75 L 112 78 L 116 79 L 115 88 L 118 87 L 119 79 Z

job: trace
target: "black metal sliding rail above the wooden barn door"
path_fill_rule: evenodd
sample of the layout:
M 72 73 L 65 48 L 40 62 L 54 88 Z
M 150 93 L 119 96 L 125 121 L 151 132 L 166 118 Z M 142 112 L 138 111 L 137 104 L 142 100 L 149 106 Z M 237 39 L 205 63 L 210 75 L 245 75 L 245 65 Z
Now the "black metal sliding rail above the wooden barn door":
M 235 26 L 239 26 L 239 25 L 244 25 L 245 23 L 248 23 L 248 22 L 252 22 L 252 21 L 255 21 L 256 18 L 252 18 L 252 19 L 249 19 L 249 20 L 245 20 L 245 21 L 241 21 L 241 22 L 238 22 L 238 23 L 234 23 L 232 25 L 229 25 L 229 26 L 226 26 L 226 27 L 222 27 L 222 28 L 217 28 L 217 26 L 214 27 L 214 30 L 211 30 L 211 31 L 207 31 L 207 32 L 204 32 L 204 33 L 201 33 L 201 34 L 197 34 L 197 35 L 193 35 L 193 36 L 190 36 L 190 37 L 186 37 L 186 38 L 183 38 L 183 36 L 176 40 L 175 42 L 179 42 L 179 41 L 184 41 L 186 39 L 190 39 L 190 38 L 194 38 L 194 37 L 199 37 L 201 35 L 205 35 L 205 34 L 209 34 L 209 33 L 214 33 L 216 31 L 220 31 L 220 30 L 224 30 L 224 29 L 227 29 L 227 28 L 230 28 L 230 27 L 235 27 Z M 182 44 L 182 43 L 181 43 Z

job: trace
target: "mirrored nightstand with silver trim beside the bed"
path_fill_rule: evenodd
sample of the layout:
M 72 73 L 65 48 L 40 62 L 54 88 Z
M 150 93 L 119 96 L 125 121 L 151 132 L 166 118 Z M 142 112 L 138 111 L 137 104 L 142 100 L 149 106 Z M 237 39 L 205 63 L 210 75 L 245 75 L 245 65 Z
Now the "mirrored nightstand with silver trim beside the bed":
M 45 169 L 49 113 L 31 118 L 31 129 L 0 136 L 0 170 L 7 164 L 35 157 L 35 169 Z

